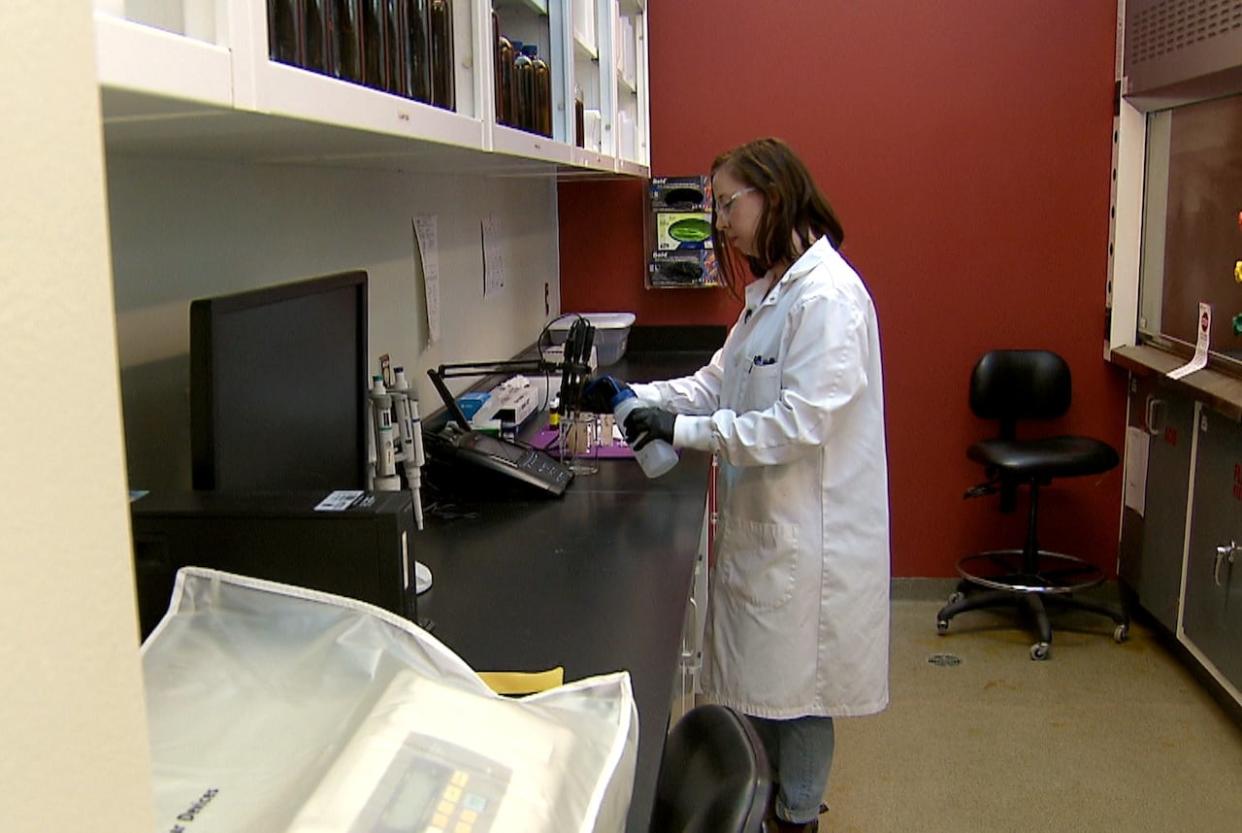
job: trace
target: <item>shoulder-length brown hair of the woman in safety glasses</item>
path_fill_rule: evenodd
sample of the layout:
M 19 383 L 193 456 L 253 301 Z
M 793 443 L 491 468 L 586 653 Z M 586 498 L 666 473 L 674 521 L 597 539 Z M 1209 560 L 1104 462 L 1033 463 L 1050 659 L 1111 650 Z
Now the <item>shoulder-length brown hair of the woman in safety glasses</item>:
M 832 206 L 811 179 L 811 173 L 794 150 L 780 139 L 755 139 L 727 150 L 712 163 L 712 175 L 722 168 L 764 195 L 764 214 L 755 228 L 755 256 L 744 259 L 755 277 L 763 277 L 777 263 L 791 264 L 820 237 L 840 248 L 846 231 Z M 799 248 L 800 241 L 802 248 Z M 745 281 L 739 274 L 739 254 L 729 248 L 715 227 L 712 205 L 712 245 L 717 266 L 735 295 Z

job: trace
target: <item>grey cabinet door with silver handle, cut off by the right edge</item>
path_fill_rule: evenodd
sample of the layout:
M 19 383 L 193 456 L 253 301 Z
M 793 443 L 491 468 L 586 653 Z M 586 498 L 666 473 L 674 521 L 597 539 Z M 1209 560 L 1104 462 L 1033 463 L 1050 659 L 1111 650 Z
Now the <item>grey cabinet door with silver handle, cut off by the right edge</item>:
M 1186 554 L 1182 629 L 1242 688 L 1242 426 L 1203 408 Z

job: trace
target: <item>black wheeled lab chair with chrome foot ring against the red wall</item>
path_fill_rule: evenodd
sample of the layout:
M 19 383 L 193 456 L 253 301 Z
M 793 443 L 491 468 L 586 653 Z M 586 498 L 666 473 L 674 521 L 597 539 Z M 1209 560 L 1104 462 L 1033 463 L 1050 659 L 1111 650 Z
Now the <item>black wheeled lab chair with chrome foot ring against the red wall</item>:
M 1028 612 L 1038 631 L 1031 659 L 1047 659 L 1052 626 L 1045 602 L 1108 616 L 1117 623 L 1113 638 L 1124 642 L 1130 619 L 1125 611 L 1074 598 L 1072 593 L 1104 580 L 1094 565 L 1040 549 L 1040 487 L 1053 478 L 1107 472 L 1118 463 L 1117 452 L 1098 439 L 1077 436 L 1018 439 L 1020 420 L 1052 420 L 1069 410 L 1069 365 L 1048 350 L 994 350 L 975 365 L 970 377 L 970 410 L 1000 421 L 1000 436 L 970 447 L 966 456 L 981 463 L 987 482 L 966 492 L 968 498 L 1000 493 L 1001 511 L 1013 511 L 1017 490 L 1030 489 L 1026 544 L 1022 549 L 991 550 L 958 561 L 963 581 L 949 603 L 936 613 L 936 629 L 949 629 L 958 613 L 985 607 L 1016 606 Z

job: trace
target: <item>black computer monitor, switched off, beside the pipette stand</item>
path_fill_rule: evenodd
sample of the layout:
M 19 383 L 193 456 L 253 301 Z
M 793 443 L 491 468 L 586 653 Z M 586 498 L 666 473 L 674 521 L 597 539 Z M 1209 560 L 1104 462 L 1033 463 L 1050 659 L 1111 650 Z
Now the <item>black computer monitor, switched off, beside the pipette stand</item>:
M 363 489 L 366 273 L 190 304 L 195 489 Z

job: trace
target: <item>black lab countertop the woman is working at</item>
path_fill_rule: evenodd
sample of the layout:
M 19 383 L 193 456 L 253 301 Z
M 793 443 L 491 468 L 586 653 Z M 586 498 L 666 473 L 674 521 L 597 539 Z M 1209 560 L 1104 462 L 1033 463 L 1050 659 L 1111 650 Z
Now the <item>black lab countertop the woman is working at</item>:
M 693 372 L 710 351 L 631 353 L 605 369 L 630 381 Z M 420 619 L 478 670 L 627 670 L 638 761 L 627 831 L 647 829 L 663 752 L 710 458 L 682 452 L 648 480 L 632 459 L 599 461 L 561 498 L 458 502 L 428 516 L 415 556 L 433 576 Z

